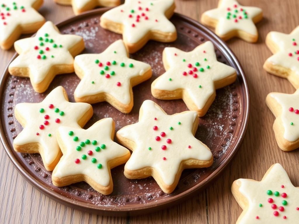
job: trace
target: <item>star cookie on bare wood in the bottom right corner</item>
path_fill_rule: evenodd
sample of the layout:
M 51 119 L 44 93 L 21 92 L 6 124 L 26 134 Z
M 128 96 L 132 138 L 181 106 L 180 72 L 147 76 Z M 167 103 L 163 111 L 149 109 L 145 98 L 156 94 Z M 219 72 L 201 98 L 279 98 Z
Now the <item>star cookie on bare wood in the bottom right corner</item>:
M 283 167 L 272 165 L 261 181 L 237 179 L 231 191 L 243 209 L 237 224 L 298 223 L 299 188 Z

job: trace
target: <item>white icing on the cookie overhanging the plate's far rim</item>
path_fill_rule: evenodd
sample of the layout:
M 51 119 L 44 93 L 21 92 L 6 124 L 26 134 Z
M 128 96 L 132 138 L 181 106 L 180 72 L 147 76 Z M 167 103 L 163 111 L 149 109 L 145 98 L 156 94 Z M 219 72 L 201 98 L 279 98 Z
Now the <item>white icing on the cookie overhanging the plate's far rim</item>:
M 124 39 L 134 44 L 150 31 L 176 32 L 174 25 L 164 15 L 172 5 L 173 0 L 126 0 L 124 4 L 104 13 L 101 18 L 123 24 Z M 141 7 L 141 10 L 138 7 Z M 134 13 L 131 13 L 131 10 L 134 10 Z M 142 13 L 144 16 L 141 15 Z M 139 22 L 136 22 L 137 15 L 140 16 Z M 135 26 L 132 27 L 132 24 Z

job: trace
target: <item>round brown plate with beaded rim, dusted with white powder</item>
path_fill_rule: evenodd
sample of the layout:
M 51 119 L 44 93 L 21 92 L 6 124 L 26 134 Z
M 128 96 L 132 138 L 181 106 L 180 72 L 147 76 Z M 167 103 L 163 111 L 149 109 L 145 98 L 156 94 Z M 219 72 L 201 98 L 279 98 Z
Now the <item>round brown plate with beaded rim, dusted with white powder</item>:
M 62 33 L 83 36 L 86 49 L 83 53 L 100 53 L 112 42 L 121 39 L 119 34 L 103 30 L 99 26 L 101 14 L 107 9 L 93 10 L 68 19 L 57 26 Z M 62 85 L 74 102 L 74 90 L 80 79 L 74 74 L 56 76 L 49 89 L 42 94 L 35 93 L 30 80 L 11 76 L 7 69 L 0 83 L 1 98 L 1 141 L 8 156 L 18 171 L 35 188 L 50 198 L 67 206 L 101 215 L 123 216 L 144 214 L 174 205 L 192 194 L 206 188 L 223 171 L 236 153 L 248 124 L 249 92 L 245 75 L 239 62 L 229 48 L 214 33 L 185 16 L 174 14 L 171 22 L 176 26 L 178 39 L 173 43 L 149 41 L 130 57 L 152 66 L 153 76 L 148 81 L 133 88 L 134 107 L 129 114 L 123 114 L 108 103 L 92 105 L 94 115 L 84 128 L 104 117 L 112 117 L 116 130 L 138 122 L 141 103 L 151 99 L 168 114 L 188 110 L 182 100 L 163 101 L 152 97 L 150 85 L 165 72 L 162 64 L 164 47 L 177 47 L 184 51 L 193 50 L 197 45 L 210 40 L 213 42 L 217 59 L 237 70 L 237 80 L 232 85 L 216 91 L 216 99 L 208 113 L 200 119 L 196 138 L 208 145 L 214 157 L 213 165 L 204 169 L 184 170 L 179 184 L 171 194 L 164 194 L 151 177 L 129 180 L 123 175 L 123 165 L 112 169 L 114 188 L 105 196 L 94 191 L 85 182 L 66 187 L 55 187 L 51 182 L 51 172 L 45 170 L 39 154 L 22 154 L 13 150 L 13 139 L 22 126 L 13 114 L 14 107 L 21 102 L 41 102 L 58 85 Z M 15 58 L 16 55 L 13 57 Z

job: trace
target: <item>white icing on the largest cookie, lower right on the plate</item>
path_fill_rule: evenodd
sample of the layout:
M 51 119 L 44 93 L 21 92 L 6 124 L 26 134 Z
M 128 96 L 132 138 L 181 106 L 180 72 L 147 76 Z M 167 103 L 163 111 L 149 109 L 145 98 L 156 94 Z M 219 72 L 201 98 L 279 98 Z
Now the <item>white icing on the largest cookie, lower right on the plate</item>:
M 171 185 L 182 161 L 192 158 L 207 161 L 212 158 L 211 152 L 192 134 L 192 126 L 197 119 L 195 111 L 167 115 L 151 100 L 145 100 L 141 110 L 142 116 L 137 123 L 125 126 L 117 132 L 136 144 L 125 165 L 127 169 L 152 167 L 165 184 Z M 154 130 L 154 126 L 158 129 Z M 173 129 L 170 130 L 170 127 Z M 165 133 L 164 137 L 161 132 Z M 156 141 L 156 136 L 161 140 Z M 167 143 L 167 139 L 171 139 L 171 143 Z M 161 148 L 162 145 L 166 145 L 166 150 Z M 188 145 L 191 148 L 188 148 Z

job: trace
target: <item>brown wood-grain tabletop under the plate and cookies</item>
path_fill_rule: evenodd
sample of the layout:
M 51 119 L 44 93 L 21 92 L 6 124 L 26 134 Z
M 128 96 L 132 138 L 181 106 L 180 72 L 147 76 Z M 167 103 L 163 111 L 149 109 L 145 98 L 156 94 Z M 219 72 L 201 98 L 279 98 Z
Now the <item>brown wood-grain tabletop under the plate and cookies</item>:
M 217 6 L 218 0 L 175 0 L 176 12 L 199 21 L 201 14 Z M 297 164 L 299 152 L 281 151 L 274 138 L 274 116 L 266 106 L 270 92 L 294 93 L 286 80 L 270 75 L 262 66 L 271 56 L 265 45 L 269 31 L 290 33 L 299 25 L 298 0 L 239 0 L 246 6 L 263 9 L 263 20 L 257 24 L 259 39 L 250 44 L 240 39 L 227 41 L 236 54 L 250 89 L 250 119 L 245 138 L 232 162 L 222 175 L 204 191 L 179 205 L 137 217 L 103 217 L 68 208 L 33 188 L 14 168 L 0 145 L 0 223 L 235 223 L 242 212 L 231 194 L 231 184 L 238 178 L 261 180 L 267 169 L 280 163 L 292 183 L 299 186 Z M 73 15 L 71 7 L 45 0 L 39 12 L 46 20 L 60 22 Z M 0 50 L 2 74 L 14 49 Z M 296 168 L 295 168 L 296 167 Z

